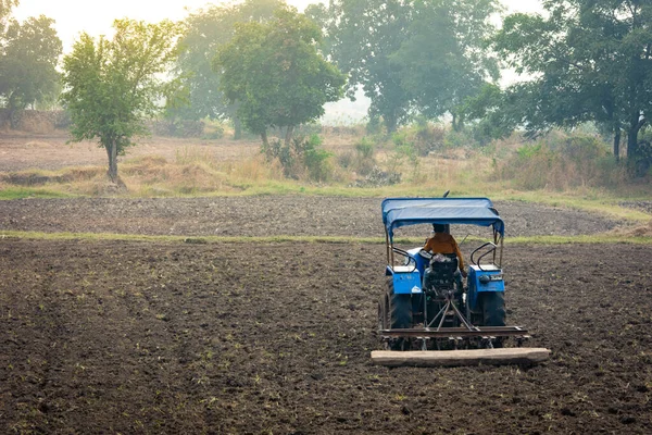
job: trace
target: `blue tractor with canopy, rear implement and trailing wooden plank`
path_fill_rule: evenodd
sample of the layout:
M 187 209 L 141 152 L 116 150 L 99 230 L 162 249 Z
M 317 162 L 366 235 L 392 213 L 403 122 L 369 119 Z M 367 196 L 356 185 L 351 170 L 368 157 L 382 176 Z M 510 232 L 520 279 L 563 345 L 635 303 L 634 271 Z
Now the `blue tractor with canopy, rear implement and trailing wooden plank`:
M 378 301 L 378 335 L 385 349 L 372 352 L 373 362 L 431 366 L 548 359 L 548 349 L 523 347 L 530 338 L 524 326 L 506 325 L 504 222 L 489 199 L 388 198 L 383 223 L 387 285 Z M 451 224 L 487 227 L 490 239 L 473 249 L 463 273 L 455 253 L 394 246 L 396 228 L 417 224 L 446 232 Z

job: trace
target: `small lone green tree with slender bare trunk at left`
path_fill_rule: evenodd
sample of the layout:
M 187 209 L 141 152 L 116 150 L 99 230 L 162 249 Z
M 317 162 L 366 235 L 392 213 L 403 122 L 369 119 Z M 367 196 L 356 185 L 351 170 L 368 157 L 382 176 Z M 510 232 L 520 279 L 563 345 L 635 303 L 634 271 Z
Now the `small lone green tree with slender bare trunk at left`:
M 112 40 L 82 34 L 64 58 L 62 101 L 71 113 L 73 140 L 98 139 L 109 157 L 108 175 L 118 183 L 117 156 L 147 134 L 145 121 L 173 86 L 161 76 L 174 62 L 177 25 L 114 22 Z

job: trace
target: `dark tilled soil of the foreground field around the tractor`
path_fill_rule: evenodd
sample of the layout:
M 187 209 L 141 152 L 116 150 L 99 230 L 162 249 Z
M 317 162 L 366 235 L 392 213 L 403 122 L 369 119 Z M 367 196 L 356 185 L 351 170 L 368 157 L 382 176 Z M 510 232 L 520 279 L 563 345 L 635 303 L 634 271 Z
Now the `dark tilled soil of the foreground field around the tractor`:
M 384 253 L 0 239 L 0 427 L 652 433 L 652 247 L 509 247 L 509 322 L 552 349 L 532 368 L 372 365 Z

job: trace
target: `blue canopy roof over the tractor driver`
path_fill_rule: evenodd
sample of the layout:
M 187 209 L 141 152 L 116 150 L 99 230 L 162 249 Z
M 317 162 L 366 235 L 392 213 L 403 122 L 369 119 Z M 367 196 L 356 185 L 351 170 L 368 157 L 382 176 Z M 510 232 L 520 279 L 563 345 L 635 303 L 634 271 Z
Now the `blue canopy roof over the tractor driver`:
M 383 223 L 390 239 L 394 228 L 416 224 L 493 226 L 501 235 L 505 231 L 488 198 L 387 198 L 383 201 Z

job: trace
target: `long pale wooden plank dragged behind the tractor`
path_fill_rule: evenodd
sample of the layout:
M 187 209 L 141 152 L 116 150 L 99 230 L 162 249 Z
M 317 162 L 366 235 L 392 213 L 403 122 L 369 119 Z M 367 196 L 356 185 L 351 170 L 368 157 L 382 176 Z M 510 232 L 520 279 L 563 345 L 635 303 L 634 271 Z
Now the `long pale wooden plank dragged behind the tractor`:
M 387 366 L 457 366 L 532 364 L 550 356 L 546 348 L 501 348 L 472 350 L 374 350 L 372 362 Z

